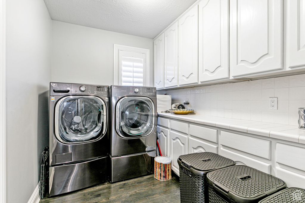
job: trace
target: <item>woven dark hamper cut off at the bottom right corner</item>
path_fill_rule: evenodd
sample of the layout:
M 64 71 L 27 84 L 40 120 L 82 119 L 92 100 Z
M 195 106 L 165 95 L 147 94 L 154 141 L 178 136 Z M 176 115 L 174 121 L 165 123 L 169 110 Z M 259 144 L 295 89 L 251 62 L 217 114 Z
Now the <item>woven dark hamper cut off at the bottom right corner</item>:
M 289 187 L 285 190 L 281 190 L 271 196 L 259 201 L 259 203 L 304 203 L 305 202 L 305 190 L 296 187 Z

